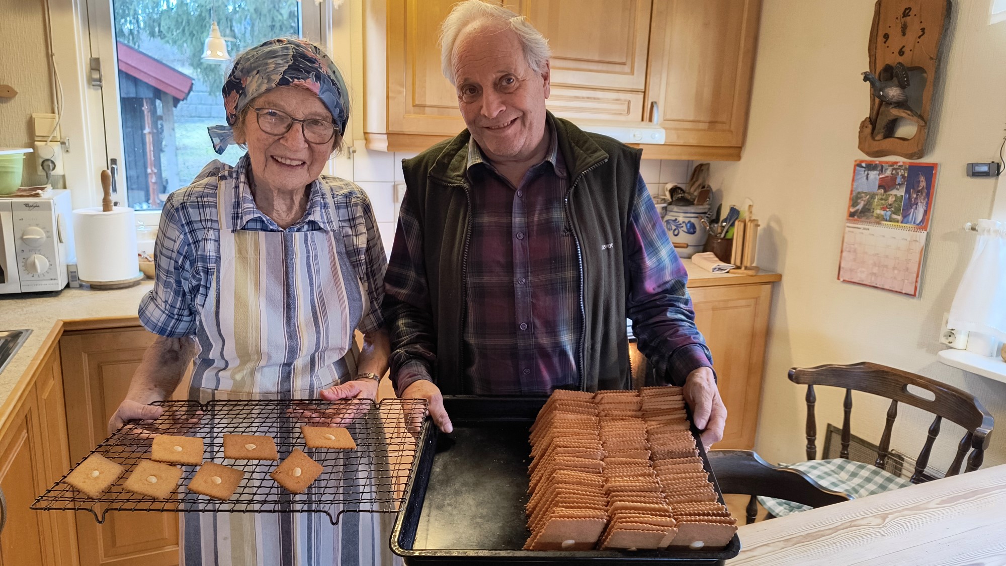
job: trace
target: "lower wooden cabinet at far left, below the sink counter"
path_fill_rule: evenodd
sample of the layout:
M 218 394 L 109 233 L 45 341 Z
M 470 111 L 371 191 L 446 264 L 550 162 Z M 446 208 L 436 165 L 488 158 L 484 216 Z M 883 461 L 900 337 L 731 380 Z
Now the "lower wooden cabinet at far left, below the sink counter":
M 59 356 L 38 366 L 37 377 L 0 436 L 0 489 L 6 525 L 0 533 L 0 565 L 77 564 L 72 514 L 29 509 L 69 468 Z

